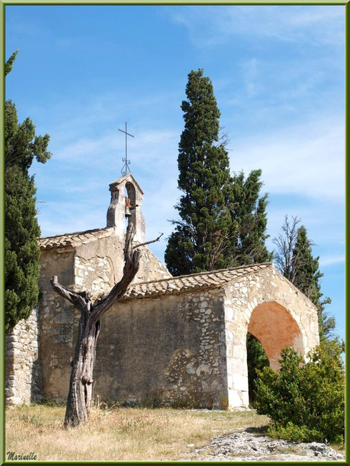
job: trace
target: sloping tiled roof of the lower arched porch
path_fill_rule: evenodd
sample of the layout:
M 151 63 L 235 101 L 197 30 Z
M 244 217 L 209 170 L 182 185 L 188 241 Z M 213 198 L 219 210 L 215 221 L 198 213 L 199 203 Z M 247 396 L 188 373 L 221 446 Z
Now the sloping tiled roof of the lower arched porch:
M 151 282 L 131 284 L 123 299 L 144 298 L 154 295 L 181 293 L 198 288 L 221 288 L 222 285 L 250 273 L 259 272 L 264 268 L 271 268 L 271 262 L 243 265 L 212 272 L 192 273 L 179 277 L 164 278 Z

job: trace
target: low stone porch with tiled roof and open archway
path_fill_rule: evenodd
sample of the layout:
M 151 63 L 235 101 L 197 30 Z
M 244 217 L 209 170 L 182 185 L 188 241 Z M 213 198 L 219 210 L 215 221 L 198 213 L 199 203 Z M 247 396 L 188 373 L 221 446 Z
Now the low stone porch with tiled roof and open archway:
M 105 316 L 96 355 L 102 400 L 247 406 L 246 333 L 270 365 L 319 343 L 314 305 L 271 263 L 135 284 Z

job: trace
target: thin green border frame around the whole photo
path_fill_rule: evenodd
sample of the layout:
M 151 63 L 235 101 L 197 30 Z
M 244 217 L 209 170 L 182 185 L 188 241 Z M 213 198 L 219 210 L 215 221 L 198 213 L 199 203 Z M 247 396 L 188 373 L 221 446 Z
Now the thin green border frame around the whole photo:
M 36 0 L 36 1 L 17 1 L 17 0 L 0 0 L 0 24 L 2 26 L 2 47 L 1 47 L 1 79 L 2 79 L 2 93 L 1 93 L 1 106 L 2 111 L 0 112 L 0 128 L 4 128 L 4 101 L 5 101 L 5 79 L 4 79 L 4 63 L 5 63 L 5 6 L 7 5 L 126 5 L 126 6 L 138 6 L 138 5 L 214 5 L 214 6 L 225 6 L 225 5 L 344 5 L 345 6 L 345 238 L 348 237 L 349 234 L 349 196 L 350 196 L 350 189 L 349 189 L 349 180 L 348 180 L 348 171 L 349 171 L 349 107 L 350 107 L 350 91 L 349 91 L 349 54 L 350 54 L 350 0 L 344 1 L 331 1 L 331 0 L 299 0 L 299 1 L 264 1 L 264 0 L 241 0 L 241 1 L 230 1 L 230 0 L 220 0 L 220 1 L 213 1 L 213 0 L 178 0 L 178 1 L 166 1 L 166 0 L 159 0 L 159 1 L 138 1 L 138 0 L 129 0 L 129 1 L 115 1 L 115 0 L 104 0 L 104 1 L 96 1 L 96 0 L 60 0 L 60 1 L 48 1 L 48 0 Z M 1 144 L 1 157 L 0 157 L 0 173 L 2 176 L 0 177 L 0 193 L 4 193 L 4 131 L 0 131 L 0 144 Z M 1 196 L 1 216 L 0 216 L 0 226 L 1 226 L 1 238 L 4 238 L 4 196 Z M 1 363 L 2 363 L 2 370 L 1 370 L 1 396 L 0 396 L 0 412 L 1 412 L 1 452 L 0 452 L 0 460 L 2 464 L 31 464 L 34 462 L 15 462 L 15 461 L 6 461 L 6 450 L 5 450 L 5 390 L 4 390 L 4 381 L 5 381 L 5 336 L 4 336 L 4 241 L 2 241 L 3 246 L 1 248 L 0 253 L 0 280 L 1 280 L 1 293 L 0 293 L 0 303 L 1 303 L 1 330 L 0 330 L 0 354 L 1 354 Z M 345 243 L 345 329 L 346 335 L 348 335 L 348 325 L 349 320 L 347 316 L 347 310 L 349 309 L 349 290 L 350 290 L 350 280 L 349 280 L 349 270 L 348 270 L 348 263 L 347 258 L 349 257 L 349 245 L 346 241 Z M 345 367 L 347 367 L 348 362 L 348 351 L 349 345 L 345 340 Z M 346 400 L 349 400 L 349 383 L 346 380 Z M 349 435 L 348 430 L 348 422 L 349 419 L 349 410 L 347 404 L 345 406 L 345 439 L 347 440 Z M 347 448 L 347 443 L 345 444 L 345 464 L 349 464 L 349 449 Z M 66 461 L 57 461 L 57 462 L 40 462 L 41 464 L 69 464 Z M 89 464 L 89 462 L 82 462 L 83 464 Z M 104 463 L 104 462 L 94 462 L 95 463 Z M 127 464 L 134 462 L 110 462 L 106 461 L 109 464 Z M 136 463 L 136 462 L 135 462 Z M 139 462 L 137 462 L 139 463 Z M 151 461 L 144 461 L 141 463 L 146 464 L 166 464 L 167 462 L 151 462 Z M 171 462 L 172 463 L 180 463 L 184 464 L 184 462 Z M 208 462 L 201 462 L 208 464 Z M 248 462 L 247 462 L 248 463 Z M 261 462 L 260 462 L 261 463 Z M 286 462 L 290 463 L 290 462 Z M 79 462 L 72 462 L 72 464 L 79 464 Z M 209 463 L 210 464 L 210 463 Z M 238 464 L 238 463 L 237 463 Z M 264 464 L 276 464 L 276 462 L 264 462 Z M 337 464 L 344 464 L 344 462 L 337 462 Z

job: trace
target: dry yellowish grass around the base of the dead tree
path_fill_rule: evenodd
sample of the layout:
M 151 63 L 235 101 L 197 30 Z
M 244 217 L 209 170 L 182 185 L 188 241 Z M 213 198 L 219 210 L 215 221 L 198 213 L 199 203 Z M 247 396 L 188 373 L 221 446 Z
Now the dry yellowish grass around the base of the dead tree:
M 95 408 L 86 425 L 63 428 L 64 407 L 32 405 L 6 410 L 6 452 L 39 461 L 176 461 L 211 437 L 263 427 L 254 411 Z

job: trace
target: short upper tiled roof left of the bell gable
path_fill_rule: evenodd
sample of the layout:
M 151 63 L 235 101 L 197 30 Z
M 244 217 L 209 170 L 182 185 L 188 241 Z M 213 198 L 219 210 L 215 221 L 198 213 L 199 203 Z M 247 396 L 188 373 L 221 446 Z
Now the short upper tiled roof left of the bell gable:
M 114 228 L 96 228 L 96 230 L 76 231 L 75 233 L 64 233 L 64 235 L 44 236 L 39 238 L 41 249 L 64 248 L 66 246 L 76 247 L 91 241 L 107 238 L 114 234 Z

